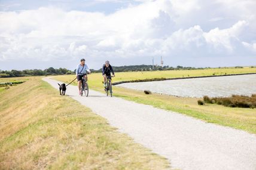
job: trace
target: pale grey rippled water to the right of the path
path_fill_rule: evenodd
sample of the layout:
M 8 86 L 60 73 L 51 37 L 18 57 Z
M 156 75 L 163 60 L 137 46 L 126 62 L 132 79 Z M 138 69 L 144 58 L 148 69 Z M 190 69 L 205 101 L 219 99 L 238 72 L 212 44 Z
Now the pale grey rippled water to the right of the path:
M 117 86 L 180 97 L 223 97 L 232 94 L 256 94 L 256 75 L 177 79 L 169 81 L 125 83 Z

